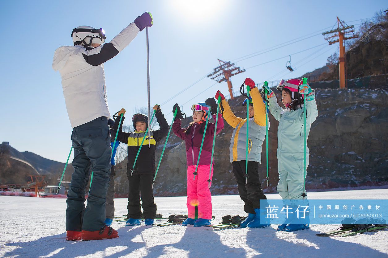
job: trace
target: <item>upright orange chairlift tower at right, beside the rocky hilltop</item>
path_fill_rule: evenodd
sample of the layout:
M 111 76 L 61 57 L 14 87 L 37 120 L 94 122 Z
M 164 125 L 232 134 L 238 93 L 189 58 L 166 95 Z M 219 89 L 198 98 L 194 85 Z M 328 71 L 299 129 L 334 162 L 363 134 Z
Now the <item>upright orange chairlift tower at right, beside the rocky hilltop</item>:
M 333 34 L 334 33 L 334 34 Z M 346 34 L 352 33 L 351 36 L 346 36 Z M 339 42 L 340 43 L 340 58 L 338 60 L 339 70 L 340 70 L 340 89 L 345 89 L 346 87 L 346 53 L 345 53 L 345 45 L 344 41 L 346 39 L 354 39 L 358 38 L 358 34 L 354 34 L 354 26 L 348 26 L 344 21 L 341 21 L 337 16 L 337 29 L 323 32 L 322 35 L 326 36 L 325 39 L 329 41 L 329 45 Z M 338 38 L 337 38 L 338 37 Z

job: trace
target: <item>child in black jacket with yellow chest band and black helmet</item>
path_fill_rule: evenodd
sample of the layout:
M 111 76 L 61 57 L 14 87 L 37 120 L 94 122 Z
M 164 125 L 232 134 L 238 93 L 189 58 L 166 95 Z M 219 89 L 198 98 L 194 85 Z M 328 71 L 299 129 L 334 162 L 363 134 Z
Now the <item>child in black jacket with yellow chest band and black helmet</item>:
M 133 127 L 135 132 L 125 133 L 122 132 L 122 123 L 120 125 L 117 139 L 125 144 L 128 144 L 128 164 L 126 168 L 126 176 L 128 176 L 128 216 L 125 226 L 140 225 L 140 219 L 142 212 L 140 209 L 140 195 L 142 195 L 142 208 L 144 215 L 144 224 L 151 226 L 154 224 L 156 217 L 156 204 L 154 203 L 154 192 L 152 190 L 152 180 L 155 174 L 155 149 L 156 143 L 162 138 L 166 137 L 168 133 L 168 123 L 159 105 L 154 106 L 156 110 L 155 117 L 158 120 L 160 129 L 153 131 L 150 129 L 151 138 L 148 139 L 148 133 L 145 131 L 148 128 L 148 116 L 144 114 L 134 114 L 132 117 Z M 125 114 L 125 109 L 121 109 L 118 113 Z M 120 119 L 116 119 L 114 123 L 114 131 L 117 131 L 118 122 Z M 124 120 L 124 117 L 123 117 Z M 139 150 L 140 144 L 142 143 L 143 137 L 146 137 L 143 142 L 143 147 L 140 150 L 139 157 L 135 164 L 135 170 L 132 173 L 133 163 Z M 151 142 L 151 147 L 148 147 Z M 131 175 L 132 173 L 132 175 Z

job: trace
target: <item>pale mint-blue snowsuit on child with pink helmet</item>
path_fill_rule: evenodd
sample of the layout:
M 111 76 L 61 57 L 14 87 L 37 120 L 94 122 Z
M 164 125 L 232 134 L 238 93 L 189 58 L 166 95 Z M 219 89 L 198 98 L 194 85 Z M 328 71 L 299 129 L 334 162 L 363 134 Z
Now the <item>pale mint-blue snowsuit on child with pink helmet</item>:
M 282 109 L 276 96 L 268 99 L 271 114 L 279 121 L 277 129 L 277 159 L 279 161 L 279 183 L 277 191 L 283 200 L 303 199 L 303 105 L 302 109 Z M 315 98 L 307 101 L 307 137 L 310 126 L 318 116 Z M 306 149 L 306 168 L 309 151 Z M 307 174 L 307 171 L 306 171 Z

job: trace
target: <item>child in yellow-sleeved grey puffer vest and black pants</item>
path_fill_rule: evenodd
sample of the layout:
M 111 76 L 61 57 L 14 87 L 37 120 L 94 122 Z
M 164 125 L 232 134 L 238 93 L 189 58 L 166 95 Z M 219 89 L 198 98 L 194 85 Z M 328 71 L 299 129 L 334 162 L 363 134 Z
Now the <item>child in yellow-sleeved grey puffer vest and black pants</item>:
M 246 162 L 246 118 L 239 118 L 230 109 L 228 101 L 220 91 L 216 99 L 221 96 L 222 115 L 225 121 L 234 128 L 230 139 L 230 162 L 233 167 L 234 178 L 241 200 L 244 201 L 244 211 L 248 217 L 243 220 L 240 227 L 266 227 L 269 221 L 260 223 L 260 200 L 266 200 L 259 178 L 259 164 L 262 161 L 262 145 L 265 139 L 265 104 L 255 82 L 250 78 L 245 79 L 245 85 L 251 89 L 251 101 L 244 100 L 243 106 L 249 102 L 249 140 L 248 145 L 248 178 L 245 184 Z M 265 207 L 262 207 L 265 210 Z

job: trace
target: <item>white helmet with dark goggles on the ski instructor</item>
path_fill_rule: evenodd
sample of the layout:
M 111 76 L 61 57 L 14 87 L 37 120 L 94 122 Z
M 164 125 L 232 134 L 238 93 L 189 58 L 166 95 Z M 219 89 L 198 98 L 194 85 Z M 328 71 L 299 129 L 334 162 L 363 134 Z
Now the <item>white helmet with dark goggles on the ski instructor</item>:
M 73 29 L 71 32 L 73 37 L 73 43 L 75 45 L 81 44 L 82 46 L 90 46 L 93 43 L 104 44 L 106 37 L 105 31 L 100 29 L 95 29 L 90 26 L 79 26 Z

